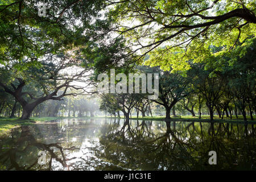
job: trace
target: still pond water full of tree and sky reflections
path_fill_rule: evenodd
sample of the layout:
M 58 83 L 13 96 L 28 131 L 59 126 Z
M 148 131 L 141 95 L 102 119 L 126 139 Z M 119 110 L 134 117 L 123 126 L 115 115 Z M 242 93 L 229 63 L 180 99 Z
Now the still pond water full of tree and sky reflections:
M 62 119 L 0 138 L 0 170 L 256 170 L 255 144 L 250 124 Z

